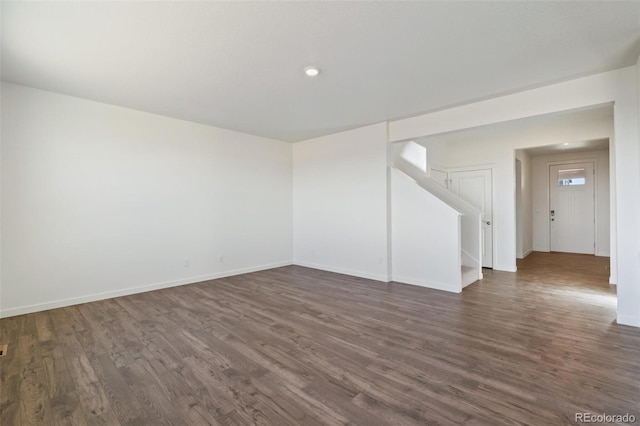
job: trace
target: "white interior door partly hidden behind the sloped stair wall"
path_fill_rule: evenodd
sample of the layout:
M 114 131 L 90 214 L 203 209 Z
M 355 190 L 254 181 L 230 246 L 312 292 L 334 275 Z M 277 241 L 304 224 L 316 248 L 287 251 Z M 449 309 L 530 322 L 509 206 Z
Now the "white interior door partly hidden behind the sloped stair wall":
M 449 189 L 483 213 L 482 267 L 493 268 L 493 194 L 491 169 L 451 172 Z

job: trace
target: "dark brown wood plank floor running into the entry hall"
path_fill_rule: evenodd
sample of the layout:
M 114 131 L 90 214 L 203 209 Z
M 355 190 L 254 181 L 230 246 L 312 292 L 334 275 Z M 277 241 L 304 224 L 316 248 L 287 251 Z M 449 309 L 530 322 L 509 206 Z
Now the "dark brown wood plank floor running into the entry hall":
M 285 267 L 0 320 L 0 424 L 640 418 L 608 259 L 534 253 L 462 294 Z

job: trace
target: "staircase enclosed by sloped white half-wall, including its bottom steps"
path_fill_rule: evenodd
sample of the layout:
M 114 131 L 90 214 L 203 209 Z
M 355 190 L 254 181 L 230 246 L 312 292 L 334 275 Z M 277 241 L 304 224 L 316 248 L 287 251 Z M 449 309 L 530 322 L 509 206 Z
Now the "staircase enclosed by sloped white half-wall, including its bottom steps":
M 393 280 L 459 293 L 482 279 L 482 212 L 428 177 L 424 147 L 407 144 L 392 164 Z

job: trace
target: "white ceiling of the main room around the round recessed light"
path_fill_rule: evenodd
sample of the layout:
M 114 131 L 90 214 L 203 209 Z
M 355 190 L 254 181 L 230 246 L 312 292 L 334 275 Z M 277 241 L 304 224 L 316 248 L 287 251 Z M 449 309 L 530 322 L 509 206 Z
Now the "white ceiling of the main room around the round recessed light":
M 299 141 L 633 65 L 631 2 L 6 2 L 2 79 Z M 302 69 L 317 65 L 316 79 Z

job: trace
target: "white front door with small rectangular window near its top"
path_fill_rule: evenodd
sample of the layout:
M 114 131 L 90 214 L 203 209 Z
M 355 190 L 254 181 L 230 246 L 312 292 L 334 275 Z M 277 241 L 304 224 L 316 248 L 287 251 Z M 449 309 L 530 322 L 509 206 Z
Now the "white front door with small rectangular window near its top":
M 550 249 L 595 254 L 593 163 L 549 167 Z

